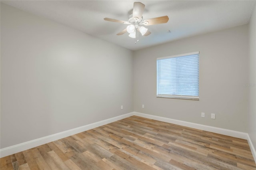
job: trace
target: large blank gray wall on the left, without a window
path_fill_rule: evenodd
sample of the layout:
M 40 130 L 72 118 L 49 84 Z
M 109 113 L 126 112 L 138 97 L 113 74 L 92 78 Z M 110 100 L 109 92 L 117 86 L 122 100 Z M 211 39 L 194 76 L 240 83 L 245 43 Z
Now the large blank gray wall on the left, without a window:
M 1 148 L 132 112 L 132 59 L 1 4 Z

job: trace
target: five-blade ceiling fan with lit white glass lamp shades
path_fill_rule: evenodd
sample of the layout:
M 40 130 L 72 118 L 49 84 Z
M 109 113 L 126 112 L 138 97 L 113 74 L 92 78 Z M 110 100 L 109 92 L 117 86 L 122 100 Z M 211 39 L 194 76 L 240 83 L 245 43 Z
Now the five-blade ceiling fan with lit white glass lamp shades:
M 129 37 L 131 38 L 136 38 L 136 35 L 138 37 L 138 32 L 140 32 L 142 36 L 148 36 L 149 34 L 151 34 L 151 32 L 148 31 L 148 29 L 145 28 L 144 26 L 164 24 L 168 22 L 169 18 L 168 16 L 160 16 L 157 18 L 150 18 L 150 19 L 144 20 L 142 17 L 144 8 L 145 8 L 145 5 L 142 4 L 141 2 L 134 2 L 133 10 L 131 12 L 132 14 L 129 16 L 128 21 L 116 20 L 112 18 L 104 18 L 104 20 L 111 21 L 111 22 L 119 22 L 122 24 L 128 24 L 128 26 L 124 30 L 116 34 L 118 36 L 123 35 L 126 32 L 129 33 Z M 141 26 L 141 25 L 144 25 L 144 26 Z

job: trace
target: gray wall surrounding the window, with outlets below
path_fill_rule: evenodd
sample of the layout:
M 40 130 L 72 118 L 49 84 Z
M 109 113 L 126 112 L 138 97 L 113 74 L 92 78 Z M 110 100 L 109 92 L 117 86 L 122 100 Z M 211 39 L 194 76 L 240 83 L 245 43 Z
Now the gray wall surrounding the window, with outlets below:
M 200 101 L 157 98 L 156 58 L 194 51 L 200 51 Z M 248 87 L 242 86 L 248 61 L 248 25 L 135 51 L 134 111 L 248 132 Z

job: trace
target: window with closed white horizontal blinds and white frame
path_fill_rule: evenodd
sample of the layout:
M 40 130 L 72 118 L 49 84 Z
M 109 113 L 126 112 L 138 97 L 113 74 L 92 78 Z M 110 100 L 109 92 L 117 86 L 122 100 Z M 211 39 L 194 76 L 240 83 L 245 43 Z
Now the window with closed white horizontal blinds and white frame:
M 199 100 L 199 51 L 157 58 L 156 97 Z

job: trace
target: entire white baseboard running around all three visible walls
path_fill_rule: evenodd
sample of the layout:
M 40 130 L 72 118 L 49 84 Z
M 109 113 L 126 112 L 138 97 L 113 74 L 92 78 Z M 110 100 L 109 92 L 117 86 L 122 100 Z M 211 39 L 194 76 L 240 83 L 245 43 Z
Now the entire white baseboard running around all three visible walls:
M 228 129 L 224 129 L 224 128 L 217 128 L 217 127 L 211 127 L 211 126 L 206 126 L 206 125 L 200 125 L 200 124 L 197 124 L 197 123 L 190 123 L 190 122 L 186 122 L 186 121 L 179 121 L 179 120 L 176 120 L 176 119 L 159 117 L 159 116 L 155 116 L 155 115 L 148 115 L 148 114 L 145 114 L 145 113 L 138 113 L 138 112 L 127 113 L 127 114 L 124 114 L 124 115 L 120 115 L 120 116 L 117 116 L 117 117 L 113 117 L 113 118 L 110 118 L 110 119 L 99 121 L 99 122 L 96 122 L 96 123 L 91 123 L 89 125 L 84 125 L 82 127 L 73 128 L 73 129 L 70 129 L 70 130 L 66 130 L 64 132 L 59 132 L 59 133 L 52 134 L 52 135 L 49 135 L 49 136 L 45 136 L 45 137 L 42 137 L 42 138 L 38 138 L 38 139 L 35 139 L 35 140 L 30 140 L 28 142 L 24 142 L 24 143 L 21 143 L 21 144 L 16 144 L 14 146 L 2 148 L 2 149 L 0 149 L 0 158 L 2 158 L 4 156 L 8 156 L 10 154 L 15 154 L 17 152 L 21 152 L 23 150 L 34 148 L 36 146 L 40 146 L 42 144 L 46 144 L 46 143 L 52 142 L 54 140 L 65 138 L 65 137 L 71 136 L 73 134 L 84 132 L 84 131 L 90 130 L 92 128 L 100 127 L 100 126 L 106 125 L 108 123 L 119 121 L 121 119 L 131 117 L 133 115 L 140 116 L 140 117 L 145 117 L 145 118 L 153 119 L 153 120 L 157 120 L 157 121 L 162 121 L 162 122 L 166 122 L 166 123 L 173 123 L 173 124 L 181 125 L 181 126 L 185 126 L 185 127 L 205 130 L 205 131 L 208 131 L 208 132 L 224 134 L 224 135 L 228 135 L 228 136 L 232 136 L 232 137 L 236 137 L 236 138 L 246 139 L 246 140 L 248 140 L 250 149 L 252 151 L 252 155 L 254 157 L 254 160 L 256 161 L 256 151 L 255 151 L 254 146 L 252 145 L 252 141 L 250 140 L 250 136 L 249 136 L 248 133 L 238 132 L 238 131 L 234 131 L 234 130 L 228 130 Z

